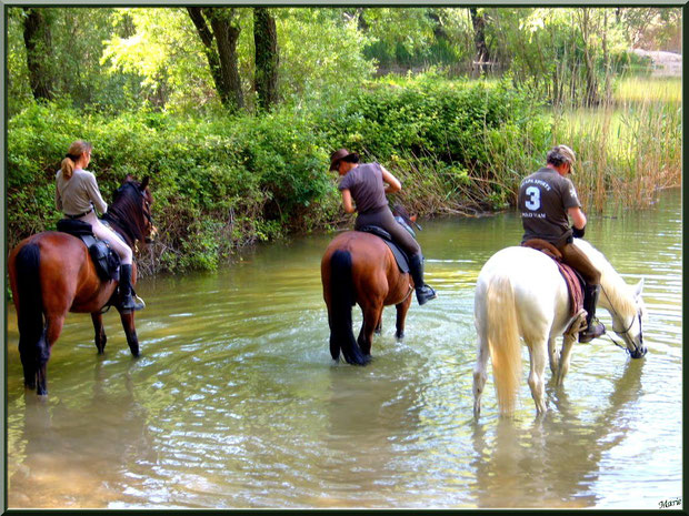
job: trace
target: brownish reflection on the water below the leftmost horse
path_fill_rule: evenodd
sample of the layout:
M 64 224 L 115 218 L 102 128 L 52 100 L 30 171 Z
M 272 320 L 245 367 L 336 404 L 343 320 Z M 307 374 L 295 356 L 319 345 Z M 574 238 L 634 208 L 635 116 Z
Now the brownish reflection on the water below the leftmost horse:
M 20 426 L 9 444 L 12 448 L 21 443 L 22 459 L 10 467 L 10 507 L 102 507 L 121 497 L 122 480 L 142 484 L 134 472 L 121 477 L 122 462 L 152 459 L 156 454 L 131 378 L 123 378 L 122 391 L 108 393 L 102 388 L 101 361 L 93 371 L 86 405 L 41 399 L 33 392 L 17 401 L 23 413 L 16 418 Z M 144 504 L 146 497 L 139 503 Z

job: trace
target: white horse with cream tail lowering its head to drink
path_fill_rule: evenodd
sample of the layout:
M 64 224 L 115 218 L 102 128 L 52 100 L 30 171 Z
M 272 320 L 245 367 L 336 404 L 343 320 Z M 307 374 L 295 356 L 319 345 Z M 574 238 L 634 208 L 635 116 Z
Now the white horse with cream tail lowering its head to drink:
M 575 239 L 575 245 L 601 273 L 598 306 L 610 313 L 612 331 L 625 341 L 631 357 L 641 358 L 647 352 L 641 333 L 646 312 L 641 299 L 643 280 L 632 287 L 591 244 Z M 529 387 L 536 411 L 545 414 L 546 360 L 550 361 L 557 385 L 561 385 L 569 370 L 578 325 L 565 332 L 575 318 L 577 316 L 570 315 L 567 284 L 552 259 L 540 251 L 517 246 L 493 254 L 479 273 L 473 300 L 478 333 L 478 357 L 473 368 L 475 417 L 478 418 L 481 411 L 489 356 L 500 413 L 512 414 L 521 377 L 520 336 L 529 348 Z M 563 335 L 563 340 L 558 354 L 555 341 L 559 335 Z

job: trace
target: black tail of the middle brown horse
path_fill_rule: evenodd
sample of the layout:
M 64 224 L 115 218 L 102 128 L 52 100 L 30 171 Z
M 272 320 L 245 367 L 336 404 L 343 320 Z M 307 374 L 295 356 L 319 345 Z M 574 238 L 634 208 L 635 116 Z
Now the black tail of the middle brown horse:
M 330 257 L 330 354 L 333 360 L 342 355 L 349 364 L 363 365 L 366 358 L 355 340 L 351 330 L 351 307 L 355 305 L 355 292 L 351 281 L 351 254 L 349 251 L 336 251 Z

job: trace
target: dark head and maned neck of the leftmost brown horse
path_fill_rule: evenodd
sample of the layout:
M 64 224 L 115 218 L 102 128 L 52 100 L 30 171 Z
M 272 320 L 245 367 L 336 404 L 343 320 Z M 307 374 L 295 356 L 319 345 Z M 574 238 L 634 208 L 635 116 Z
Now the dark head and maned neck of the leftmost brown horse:
M 114 192 L 112 204 L 108 209 L 108 220 L 114 222 L 130 237 L 136 241 L 150 243 L 158 230 L 153 225 L 151 205 L 153 196 L 148 188 L 150 178 L 138 182 L 127 175 L 122 185 Z

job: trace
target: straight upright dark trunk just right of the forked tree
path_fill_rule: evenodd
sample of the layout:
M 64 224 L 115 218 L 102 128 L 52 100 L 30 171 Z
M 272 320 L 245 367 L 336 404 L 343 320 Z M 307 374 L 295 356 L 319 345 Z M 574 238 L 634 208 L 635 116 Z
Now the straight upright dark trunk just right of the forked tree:
M 253 43 L 256 47 L 254 88 L 258 108 L 270 111 L 278 102 L 278 31 L 267 8 L 253 8 Z

